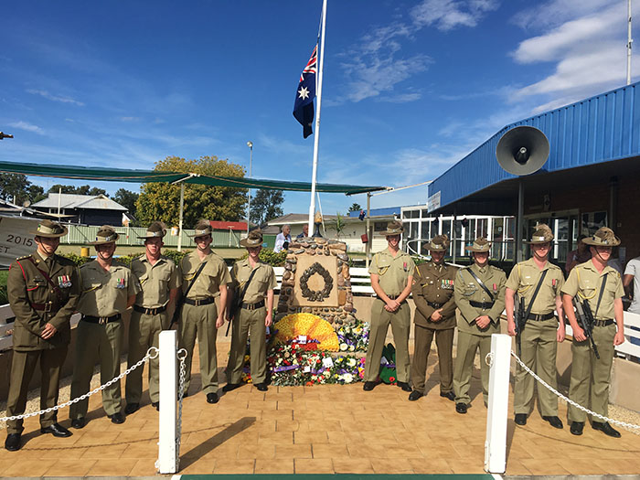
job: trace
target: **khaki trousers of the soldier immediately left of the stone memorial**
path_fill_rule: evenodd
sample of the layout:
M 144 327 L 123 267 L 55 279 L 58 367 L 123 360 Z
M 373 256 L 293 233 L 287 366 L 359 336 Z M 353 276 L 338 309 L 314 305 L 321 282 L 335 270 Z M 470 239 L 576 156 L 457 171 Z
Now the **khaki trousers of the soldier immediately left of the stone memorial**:
M 231 330 L 231 352 L 229 355 L 229 383 L 240 383 L 247 336 L 250 337 L 251 382 L 264 383 L 267 379 L 267 327 L 265 307 L 247 310 L 240 308 L 233 319 Z

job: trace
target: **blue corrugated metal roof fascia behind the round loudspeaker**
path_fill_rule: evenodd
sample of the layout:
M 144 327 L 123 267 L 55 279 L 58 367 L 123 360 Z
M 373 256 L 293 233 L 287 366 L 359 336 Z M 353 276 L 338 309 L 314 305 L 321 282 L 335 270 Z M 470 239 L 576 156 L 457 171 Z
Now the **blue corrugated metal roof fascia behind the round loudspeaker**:
M 507 125 L 436 178 L 429 186 L 429 197 L 440 192 L 440 207 L 444 207 L 515 178 L 497 163 L 496 145 L 507 130 L 520 125 L 536 127 L 549 139 L 549 160 L 540 172 L 640 155 L 639 85 L 633 83 Z

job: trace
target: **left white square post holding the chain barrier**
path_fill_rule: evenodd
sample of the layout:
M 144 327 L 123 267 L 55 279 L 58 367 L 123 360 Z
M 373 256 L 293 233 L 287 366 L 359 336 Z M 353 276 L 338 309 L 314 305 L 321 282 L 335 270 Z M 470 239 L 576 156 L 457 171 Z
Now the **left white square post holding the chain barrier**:
M 180 458 L 176 451 L 177 332 L 160 332 L 160 422 L 158 461 L 160 474 L 175 474 Z

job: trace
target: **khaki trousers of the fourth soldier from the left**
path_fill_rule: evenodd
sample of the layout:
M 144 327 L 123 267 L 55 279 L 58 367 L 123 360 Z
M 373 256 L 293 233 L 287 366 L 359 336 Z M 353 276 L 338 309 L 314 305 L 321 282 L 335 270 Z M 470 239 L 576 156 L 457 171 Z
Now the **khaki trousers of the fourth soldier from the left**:
M 200 378 L 202 390 L 205 393 L 218 393 L 218 357 L 216 351 L 216 337 L 218 328 L 218 307 L 215 303 L 208 305 L 184 304 L 180 317 L 179 344 L 187 350 L 185 367 L 185 391 L 187 393 L 191 384 L 191 362 L 193 360 L 193 348 L 196 345 L 200 357 Z

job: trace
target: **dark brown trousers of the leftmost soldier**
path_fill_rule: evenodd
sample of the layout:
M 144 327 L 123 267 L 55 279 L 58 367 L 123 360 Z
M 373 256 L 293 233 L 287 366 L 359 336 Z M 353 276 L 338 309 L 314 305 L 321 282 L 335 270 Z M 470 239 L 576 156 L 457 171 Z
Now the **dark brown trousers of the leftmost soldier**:
M 47 350 L 16 351 L 11 360 L 9 393 L 6 399 L 6 416 L 22 415 L 27 406 L 29 382 L 38 362 L 40 363 L 40 410 L 55 407 L 58 404 L 60 369 L 67 357 L 67 347 Z M 56 423 L 57 411 L 40 415 L 40 426 L 49 427 Z M 6 422 L 8 433 L 22 433 L 23 420 Z

